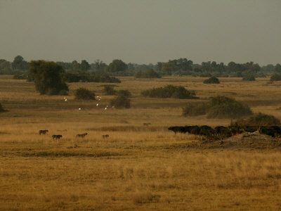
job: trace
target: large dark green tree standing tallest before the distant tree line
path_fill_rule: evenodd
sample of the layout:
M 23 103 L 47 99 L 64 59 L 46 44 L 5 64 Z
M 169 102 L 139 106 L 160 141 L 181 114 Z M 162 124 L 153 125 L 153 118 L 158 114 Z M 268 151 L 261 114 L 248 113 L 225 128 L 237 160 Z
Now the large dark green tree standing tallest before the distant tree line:
M 54 62 L 32 60 L 30 75 L 34 77 L 35 89 L 40 94 L 55 95 L 60 91 L 68 91 L 67 84 L 62 79 L 63 67 Z

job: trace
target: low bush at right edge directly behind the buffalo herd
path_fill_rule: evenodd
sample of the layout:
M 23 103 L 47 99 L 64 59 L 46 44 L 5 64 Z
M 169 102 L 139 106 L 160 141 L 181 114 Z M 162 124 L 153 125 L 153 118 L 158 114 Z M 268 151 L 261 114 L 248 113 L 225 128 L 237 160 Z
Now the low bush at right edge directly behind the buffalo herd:
M 249 126 L 270 126 L 270 125 L 280 125 L 280 120 L 273 115 L 266 115 L 263 113 L 255 114 L 248 117 L 246 120 L 237 120 L 237 124 L 249 125 Z

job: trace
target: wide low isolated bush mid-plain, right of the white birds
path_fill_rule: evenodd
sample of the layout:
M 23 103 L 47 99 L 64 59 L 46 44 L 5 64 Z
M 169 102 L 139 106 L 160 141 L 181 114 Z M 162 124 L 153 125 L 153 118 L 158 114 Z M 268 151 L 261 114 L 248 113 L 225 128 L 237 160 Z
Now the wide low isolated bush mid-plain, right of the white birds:
M 152 98 L 197 98 L 195 91 L 188 91 L 181 86 L 167 85 L 166 87 L 159 87 L 145 90 L 141 93 L 143 96 L 149 96 Z

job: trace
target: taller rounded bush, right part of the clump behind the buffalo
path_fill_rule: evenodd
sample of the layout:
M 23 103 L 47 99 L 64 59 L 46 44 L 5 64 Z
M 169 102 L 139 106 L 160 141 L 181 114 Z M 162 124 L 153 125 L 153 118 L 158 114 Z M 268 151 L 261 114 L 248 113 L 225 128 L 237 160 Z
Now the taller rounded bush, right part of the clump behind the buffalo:
M 243 105 L 233 98 L 226 96 L 212 97 L 208 103 L 207 118 L 232 118 L 237 119 L 252 115 L 251 108 Z

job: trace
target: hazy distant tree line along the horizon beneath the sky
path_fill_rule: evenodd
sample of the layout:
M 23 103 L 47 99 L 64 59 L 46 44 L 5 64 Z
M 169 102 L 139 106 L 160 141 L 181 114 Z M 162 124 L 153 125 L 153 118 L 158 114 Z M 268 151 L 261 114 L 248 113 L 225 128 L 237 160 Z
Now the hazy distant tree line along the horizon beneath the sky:
M 112 60 L 106 64 L 102 60 L 95 60 L 89 63 L 87 60 L 81 60 L 79 63 L 74 60 L 70 63 L 56 62 L 62 66 L 67 73 L 95 73 L 96 75 L 106 74 L 110 76 L 135 76 L 135 77 L 161 77 L 164 75 L 192 75 L 195 77 L 245 77 L 246 79 L 254 77 L 266 77 L 268 74 L 281 74 L 281 65 L 264 65 L 258 63 L 235 63 L 228 64 L 216 63 L 216 61 L 202 62 L 195 64 L 187 58 L 178 58 L 157 64 L 136 64 L 124 63 L 120 59 Z M 20 75 L 27 73 L 30 68 L 30 62 L 24 60 L 22 56 L 15 56 L 13 62 L 0 59 L 0 74 Z M 249 77 L 251 75 L 251 77 Z

